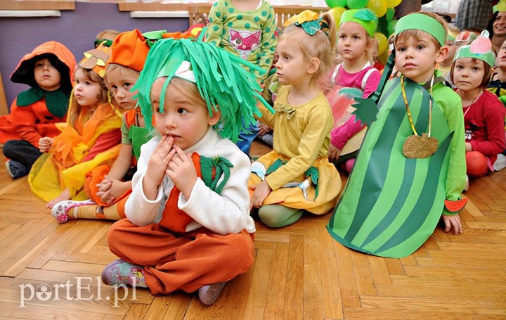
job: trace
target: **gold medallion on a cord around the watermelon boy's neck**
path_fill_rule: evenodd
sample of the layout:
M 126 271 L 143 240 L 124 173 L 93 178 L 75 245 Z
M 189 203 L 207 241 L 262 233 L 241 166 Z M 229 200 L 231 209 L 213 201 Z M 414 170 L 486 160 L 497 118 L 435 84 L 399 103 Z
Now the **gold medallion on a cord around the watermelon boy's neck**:
M 436 138 L 430 136 L 432 129 L 432 87 L 434 86 L 434 75 L 432 75 L 431 86 L 430 86 L 430 97 L 429 97 L 429 125 L 427 126 L 427 133 L 423 132 L 422 136 L 419 136 L 415 124 L 413 124 L 413 118 L 411 117 L 408 98 L 406 98 L 406 91 L 404 89 L 404 76 L 401 77 L 401 91 L 406 105 L 406 113 L 408 114 L 408 120 L 413 129 L 413 134 L 408 136 L 403 145 L 403 154 L 406 158 L 429 158 L 433 155 L 437 148 L 438 143 Z

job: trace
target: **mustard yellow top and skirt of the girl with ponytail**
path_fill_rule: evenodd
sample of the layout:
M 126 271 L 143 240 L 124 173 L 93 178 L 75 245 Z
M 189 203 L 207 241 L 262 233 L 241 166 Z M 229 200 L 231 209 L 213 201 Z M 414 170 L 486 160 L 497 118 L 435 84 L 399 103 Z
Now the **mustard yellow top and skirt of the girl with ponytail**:
M 262 109 L 262 122 L 274 128 L 274 150 L 253 162 L 248 186 L 266 179 L 273 191 L 264 205 L 322 215 L 335 207 L 341 192 L 339 173 L 327 158 L 332 111 L 323 92 L 304 105 L 289 105 L 291 88 L 278 91 L 275 114 Z

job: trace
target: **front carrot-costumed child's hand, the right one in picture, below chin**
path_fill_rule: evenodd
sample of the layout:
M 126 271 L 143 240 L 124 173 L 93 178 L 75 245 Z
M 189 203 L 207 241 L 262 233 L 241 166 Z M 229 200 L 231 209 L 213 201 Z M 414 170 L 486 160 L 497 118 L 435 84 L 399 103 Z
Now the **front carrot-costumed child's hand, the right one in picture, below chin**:
M 174 146 L 174 150 L 176 151 L 176 155 L 169 162 L 166 174 L 174 181 L 174 186 L 186 198 L 190 198 L 193 186 L 195 186 L 195 182 L 197 181 L 197 170 L 195 169 L 195 165 L 193 165 L 191 154 L 184 153 L 179 146 Z

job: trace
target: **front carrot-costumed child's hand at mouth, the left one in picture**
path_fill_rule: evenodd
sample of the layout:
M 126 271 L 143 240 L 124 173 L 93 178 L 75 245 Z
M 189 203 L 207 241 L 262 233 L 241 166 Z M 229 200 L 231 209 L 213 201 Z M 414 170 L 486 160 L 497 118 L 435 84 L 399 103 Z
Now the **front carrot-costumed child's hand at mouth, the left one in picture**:
M 165 170 L 169 165 L 172 157 L 176 151 L 172 148 L 174 144 L 174 138 L 168 136 L 162 136 L 160 142 L 155 147 L 153 155 L 148 162 L 148 169 L 146 169 L 145 181 L 160 186 L 165 177 Z

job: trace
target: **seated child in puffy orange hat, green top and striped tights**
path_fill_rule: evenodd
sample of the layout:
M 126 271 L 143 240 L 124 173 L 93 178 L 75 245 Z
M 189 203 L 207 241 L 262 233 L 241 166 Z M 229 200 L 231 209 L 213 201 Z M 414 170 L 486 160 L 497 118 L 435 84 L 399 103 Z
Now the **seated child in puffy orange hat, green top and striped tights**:
M 124 204 L 131 193 L 131 177 L 141 153 L 141 146 L 150 138 L 137 99 L 136 84 L 150 47 L 139 30 L 122 32 L 112 43 L 104 81 L 122 110 L 122 146 L 112 166 L 100 165 L 86 174 L 84 191 L 89 200 L 64 200 L 53 206 L 51 213 L 58 222 L 67 219 L 112 219 L 125 217 Z

